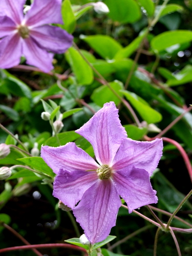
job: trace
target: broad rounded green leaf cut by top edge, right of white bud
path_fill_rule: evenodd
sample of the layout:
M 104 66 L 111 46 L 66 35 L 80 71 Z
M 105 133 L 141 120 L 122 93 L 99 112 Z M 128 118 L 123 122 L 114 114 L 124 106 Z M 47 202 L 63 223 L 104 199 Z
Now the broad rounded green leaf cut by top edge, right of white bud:
M 120 23 L 134 23 L 141 18 L 139 5 L 134 0 L 104 0 L 110 9 L 108 16 Z

